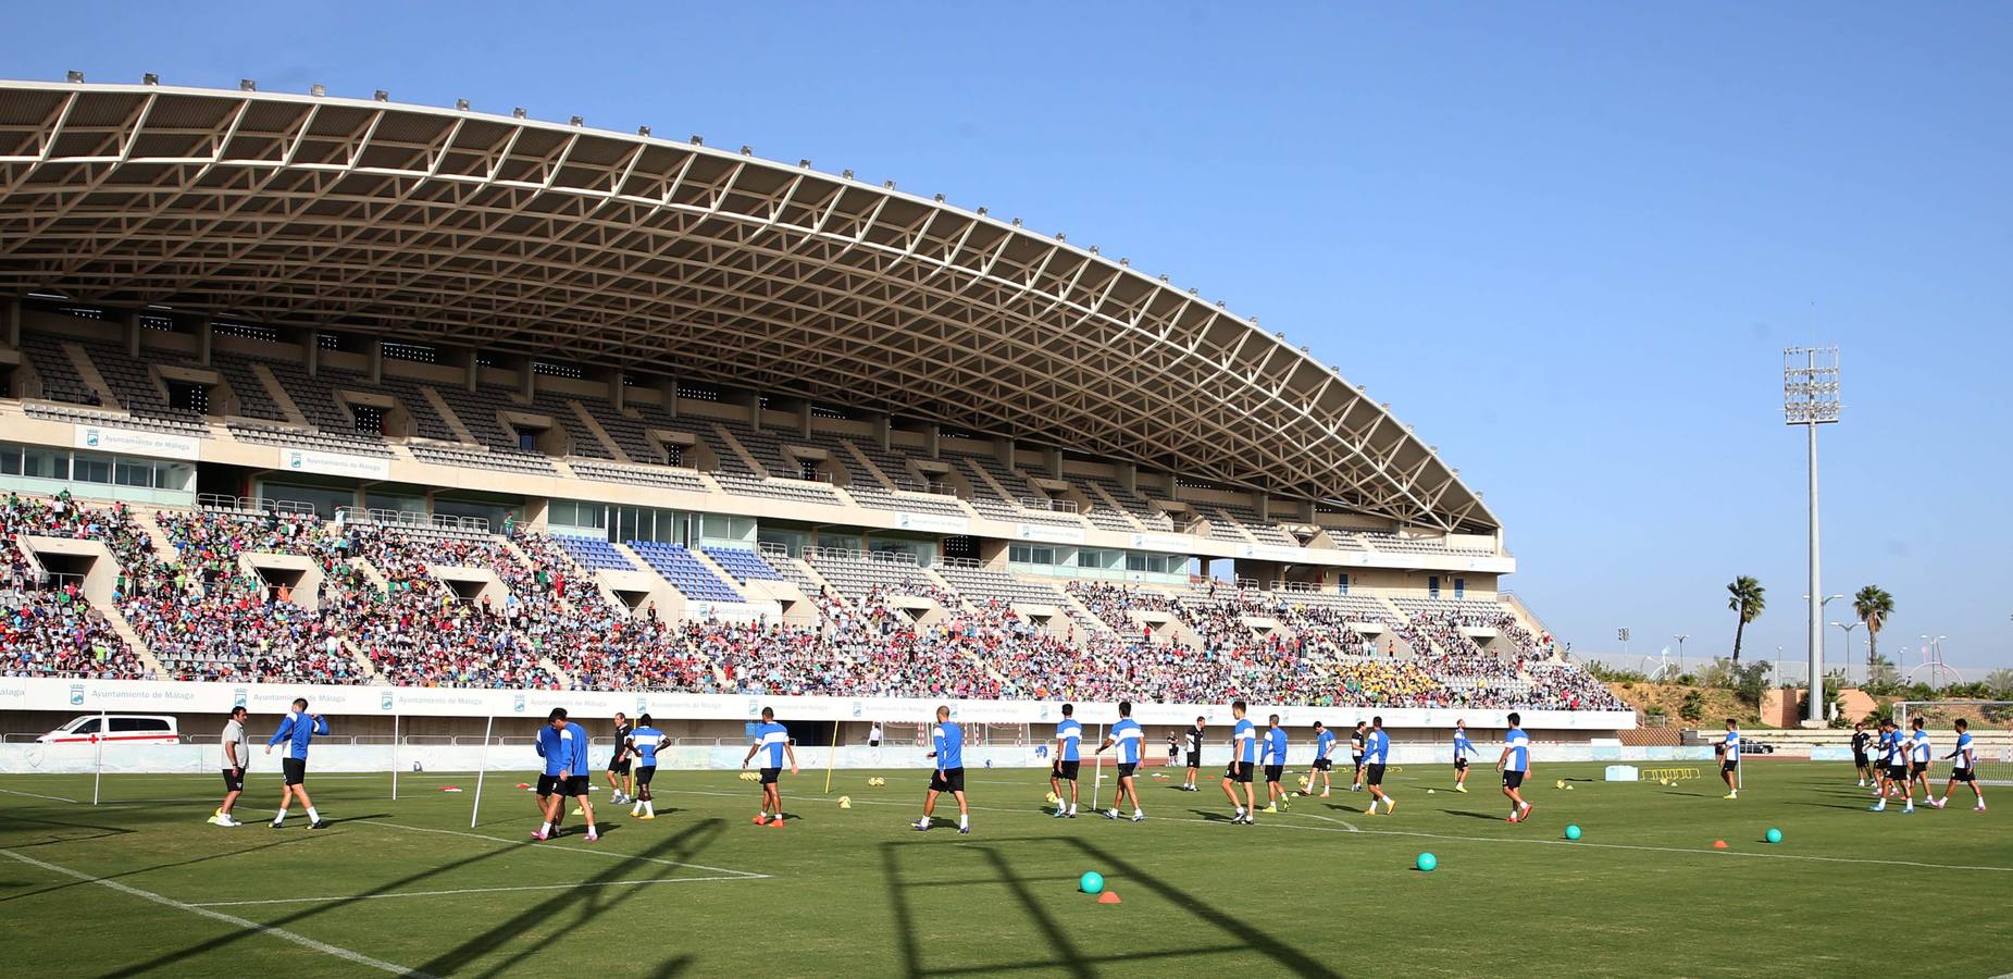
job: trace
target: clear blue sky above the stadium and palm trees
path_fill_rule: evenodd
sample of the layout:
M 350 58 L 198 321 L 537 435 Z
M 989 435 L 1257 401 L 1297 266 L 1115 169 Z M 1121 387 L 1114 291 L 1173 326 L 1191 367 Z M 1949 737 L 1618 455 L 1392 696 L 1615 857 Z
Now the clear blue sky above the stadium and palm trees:
M 521 105 L 1069 232 L 1389 401 L 1576 649 L 1723 653 L 1753 574 L 1802 655 L 1779 355 L 1838 342 L 1826 592 L 2013 665 L 2013 6 L 1248 6 L 70 2 L 0 77 Z

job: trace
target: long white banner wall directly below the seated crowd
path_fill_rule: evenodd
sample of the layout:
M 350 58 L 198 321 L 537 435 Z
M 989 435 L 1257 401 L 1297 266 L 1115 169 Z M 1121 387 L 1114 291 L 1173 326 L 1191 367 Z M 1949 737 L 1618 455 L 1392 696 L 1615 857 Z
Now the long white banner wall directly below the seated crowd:
M 1055 723 L 1061 701 L 944 701 L 902 697 L 751 697 L 737 693 L 656 693 L 656 691 L 511 691 L 511 689 L 449 689 L 449 687 L 318 687 L 276 683 L 197 683 L 197 681 L 68 681 L 42 677 L 0 679 L 0 711 L 76 711 L 76 713 L 229 713 L 246 707 L 252 713 L 286 713 L 294 697 L 306 697 L 314 713 L 378 715 L 378 717 L 546 717 L 554 707 L 574 715 L 606 717 L 614 711 L 650 711 L 666 719 L 686 721 L 747 721 L 775 707 L 787 721 L 928 721 L 936 705 L 948 703 L 952 719 L 972 723 Z M 1250 705 L 1250 717 L 1260 727 L 1266 715 L 1278 713 L 1286 727 L 1323 721 L 1347 727 L 1373 715 L 1385 727 L 1508 727 L 1510 711 L 1480 711 L 1453 707 L 1306 707 Z M 1536 731 L 1618 731 L 1635 727 L 1635 711 L 1522 711 L 1524 727 Z M 1083 723 L 1113 723 L 1115 703 L 1077 703 Z M 1206 717 L 1212 725 L 1228 725 L 1230 705 L 1224 703 L 1139 703 L 1133 719 L 1151 725 L 1188 725 Z

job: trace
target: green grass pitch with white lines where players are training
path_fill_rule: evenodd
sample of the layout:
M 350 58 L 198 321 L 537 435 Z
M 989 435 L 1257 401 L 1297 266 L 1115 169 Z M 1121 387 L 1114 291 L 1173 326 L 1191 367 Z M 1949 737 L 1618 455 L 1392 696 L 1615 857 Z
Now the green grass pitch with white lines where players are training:
M 749 822 L 733 772 L 666 772 L 658 818 L 604 802 L 598 844 L 578 820 L 527 842 L 517 772 L 489 776 L 473 830 L 473 776 L 405 774 L 397 802 L 389 776 L 310 776 L 320 832 L 300 810 L 266 828 L 270 772 L 234 830 L 203 822 L 213 776 L 109 776 L 97 808 L 89 776 L 0 776 L 0 917 L 34 975 L 1745 977 L 1870 971 L 1896 937 L 1939 975 L 2013 967 L 2013 796 L 1870 814 L 1846 765 L 1747 767 L 1727 802 L 1711 778 L 1540 765 L 1520 826 L 1488 770 L 1461 796 L 1407 765 L 1395 816 L 1337 792 L 1258 826 L 1224 822 L 1214 778 L 1141 780 L 1147 822 L 1113 824 L 1089 772 L 1085 814 L 1055 820 L 1045 774 L 972 770 L 970 836 L 954 804 L 908 826 L 918 770 L 839 772 L 829 796 L 823 772 L 785 776 L 783 830 Z M 1121 902 L 1077 892 L 1085 870 Z

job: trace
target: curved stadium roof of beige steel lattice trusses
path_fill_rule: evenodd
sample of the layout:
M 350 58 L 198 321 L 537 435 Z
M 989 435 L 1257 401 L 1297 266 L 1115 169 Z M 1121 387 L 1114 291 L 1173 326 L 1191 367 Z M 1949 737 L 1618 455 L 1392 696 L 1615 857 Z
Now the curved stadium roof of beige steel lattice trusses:
M 0 83 L 0 294 L 30 290 L 660 371 L 1498 526 L 1333 369 L 1190 292 L 849 171 L 648 135 Z

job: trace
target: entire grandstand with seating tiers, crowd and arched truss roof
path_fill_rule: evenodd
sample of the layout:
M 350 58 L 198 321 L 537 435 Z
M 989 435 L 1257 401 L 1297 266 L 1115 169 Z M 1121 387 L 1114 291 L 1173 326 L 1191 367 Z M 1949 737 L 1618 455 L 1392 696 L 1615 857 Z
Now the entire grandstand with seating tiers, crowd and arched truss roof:
M 0 316 L 6 677 L 1635 723 L 1363 387 L 809 161 L 0 83 Z

